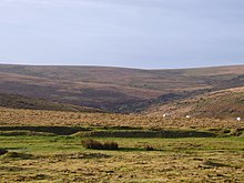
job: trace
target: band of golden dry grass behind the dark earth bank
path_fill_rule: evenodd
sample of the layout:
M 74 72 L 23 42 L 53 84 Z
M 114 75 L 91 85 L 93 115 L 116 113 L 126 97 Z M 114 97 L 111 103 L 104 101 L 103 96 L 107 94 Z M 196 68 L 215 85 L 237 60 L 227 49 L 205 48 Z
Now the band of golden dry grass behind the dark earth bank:
M 214 119 L 163 119 L 135 114 L 80 113 L 0 108 L 0 125 L 101 125 L 148 129 L 241 129 L 243 122 Z

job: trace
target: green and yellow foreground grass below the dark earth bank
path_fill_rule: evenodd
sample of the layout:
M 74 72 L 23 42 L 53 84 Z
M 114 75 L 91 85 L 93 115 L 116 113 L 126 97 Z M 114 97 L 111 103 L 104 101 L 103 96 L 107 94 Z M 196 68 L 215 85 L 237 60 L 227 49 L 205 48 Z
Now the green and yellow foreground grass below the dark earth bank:
M 0 156 L 0 182 L 244 182 L 243 138 L 96 138 L 118 151 L 85 150 L 82 140 L 0 136 L 1 148 L 22 154 Z

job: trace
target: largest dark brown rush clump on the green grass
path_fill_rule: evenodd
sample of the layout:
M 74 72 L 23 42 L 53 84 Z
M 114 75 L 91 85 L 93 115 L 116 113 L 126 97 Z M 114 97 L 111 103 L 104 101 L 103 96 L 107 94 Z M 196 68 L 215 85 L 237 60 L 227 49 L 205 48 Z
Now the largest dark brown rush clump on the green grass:
M 118 150 L 119 149 L 119 144 L 116 142 L 101 143 L 92 139 L 82 141 L 82 145 L 85 149 L 93 149 L 93 150 Z

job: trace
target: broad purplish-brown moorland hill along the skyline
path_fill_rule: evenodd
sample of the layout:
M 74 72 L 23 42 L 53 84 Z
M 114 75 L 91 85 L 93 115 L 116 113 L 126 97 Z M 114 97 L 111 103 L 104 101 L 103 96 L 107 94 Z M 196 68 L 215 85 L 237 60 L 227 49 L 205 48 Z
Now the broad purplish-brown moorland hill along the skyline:
M 177 70 L 0 65 L 0 93 L 113 112 L 141 111 L 156 101 L 243 85 L 244 65 Z

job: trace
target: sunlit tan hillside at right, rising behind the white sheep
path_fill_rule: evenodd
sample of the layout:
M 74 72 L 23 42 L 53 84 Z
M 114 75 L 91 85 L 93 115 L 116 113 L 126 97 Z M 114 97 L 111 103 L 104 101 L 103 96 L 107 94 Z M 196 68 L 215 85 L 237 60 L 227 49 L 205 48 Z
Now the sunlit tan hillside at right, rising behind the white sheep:
M 167 113 L 175 118 L 244 119 L 244 87 L 199 94 L 166 104 L 151 105 L 145 114 L 155 116 Z

